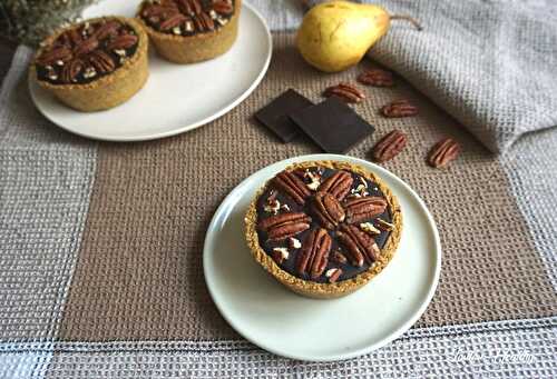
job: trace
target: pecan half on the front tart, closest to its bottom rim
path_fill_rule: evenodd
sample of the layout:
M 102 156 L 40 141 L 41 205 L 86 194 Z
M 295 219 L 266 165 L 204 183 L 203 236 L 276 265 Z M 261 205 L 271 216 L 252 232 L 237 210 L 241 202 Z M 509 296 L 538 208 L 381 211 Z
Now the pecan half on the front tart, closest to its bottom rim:
M 297 256 L 296 269 L 300 275 L 309 273 L 311 278 L 319 278 L 329 262 L 332 239 L 325 229 L 313 229 Z

